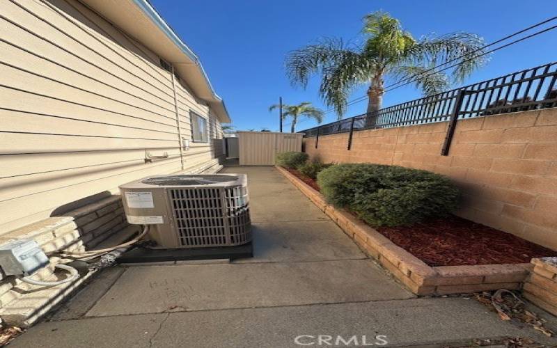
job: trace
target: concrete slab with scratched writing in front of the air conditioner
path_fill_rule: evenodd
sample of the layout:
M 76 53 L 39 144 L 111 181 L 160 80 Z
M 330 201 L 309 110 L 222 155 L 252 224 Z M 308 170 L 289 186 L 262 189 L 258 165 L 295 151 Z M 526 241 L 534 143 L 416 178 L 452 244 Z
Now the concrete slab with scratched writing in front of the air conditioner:
M 413 296 L 370 260 L 132 267 L 86 316 Z

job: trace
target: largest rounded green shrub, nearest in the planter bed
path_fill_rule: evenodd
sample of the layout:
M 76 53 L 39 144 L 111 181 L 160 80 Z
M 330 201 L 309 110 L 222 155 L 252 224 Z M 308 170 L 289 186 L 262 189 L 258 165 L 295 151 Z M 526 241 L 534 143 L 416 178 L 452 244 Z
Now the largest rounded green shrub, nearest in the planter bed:
M 448 177 L 399 166 L 339 164 L 317 175 L 327 201 L 355 212 L 372 226 L 401 226 L 457 207 L 459 191 Z

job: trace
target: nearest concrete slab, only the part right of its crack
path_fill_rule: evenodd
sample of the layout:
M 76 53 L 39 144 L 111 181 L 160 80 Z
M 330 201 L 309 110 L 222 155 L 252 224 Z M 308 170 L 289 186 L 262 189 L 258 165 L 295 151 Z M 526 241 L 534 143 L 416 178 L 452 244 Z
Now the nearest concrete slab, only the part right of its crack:
M 315 342 L 308 347 L 320 347 L 317 335 L 345 339 L 356 335 L 360 346 L 363 335 L 367 342 L 385 335 L 391 347 L 446 347 L 447 343 L 503 336 L 551 342 L 532 330 L 502 322 L 474 300 L 457 298 L 173 313 L 152 342 L 153 347 L 180 347 L 181 342 L 191 347 L 304 347 L 295 344 L 299 335 L 313 336 L 300 340 Z

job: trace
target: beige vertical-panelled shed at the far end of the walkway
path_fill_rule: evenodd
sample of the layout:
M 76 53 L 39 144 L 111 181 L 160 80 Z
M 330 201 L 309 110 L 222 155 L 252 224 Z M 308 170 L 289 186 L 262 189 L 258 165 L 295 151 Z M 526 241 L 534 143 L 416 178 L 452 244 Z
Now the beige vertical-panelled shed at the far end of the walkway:
M 279 152 L 301 151 L 301 133 L 237 132 L 241 166 L 273 166 Z

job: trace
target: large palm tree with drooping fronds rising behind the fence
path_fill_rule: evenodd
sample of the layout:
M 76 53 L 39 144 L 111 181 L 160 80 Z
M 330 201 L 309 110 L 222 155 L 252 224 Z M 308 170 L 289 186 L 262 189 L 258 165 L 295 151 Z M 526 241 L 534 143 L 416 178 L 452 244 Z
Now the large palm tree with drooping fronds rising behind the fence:
M 381 109 L 384 81 L 412 81 L 425 95 L 441 93 L 450 86 L 444 72 L 427 70 L 466 55 L 451 70 L 453 82 L 460 83 L 487 62 L 483 38 L 472 33 L 450 33 L 416 40 L 389 13 L 375 12 L 363 17 L 363 45 L 345 45 L 343 40 L 325 38 L 315 45 L 288 54 L 285 64 L 292 84 L 306 88 L 312 74 L 321 74 L 320 96 L 334 107 L 338 119 L 347 109 L 352 89 L 368 88 L 368 115 Z M 473 53 L 472 53 L 473 52 Z M 426 73 L 427 72 L 427 73 Z

